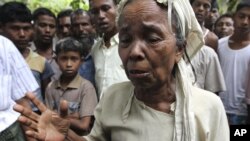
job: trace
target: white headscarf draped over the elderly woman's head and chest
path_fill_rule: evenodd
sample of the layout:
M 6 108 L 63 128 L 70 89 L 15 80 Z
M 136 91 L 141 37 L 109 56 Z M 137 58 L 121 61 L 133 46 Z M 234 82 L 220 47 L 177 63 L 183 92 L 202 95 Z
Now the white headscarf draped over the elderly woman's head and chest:
M 192 58 L 204 45 L 202 29 L 196 20 L 189 0 L 155 0 L 168 7 L 168 19 L 172 19 L 172 9 L 176 10 L 181 23 L 182 36 L 187 41 L 187 55 Z M 121 0 L 118 6 L 118 19 L 128 0 Z M 169 29 L 171 27 L 171 20 Z M 186 72 L 187 66 L 183 59 L 178 62 L 177 90 L 176 90 L 176 109 L 175 109 L 175 129 L 174 141 L 194 141 L 194 114 L 192 112 L 192 84 L 188 81 Z

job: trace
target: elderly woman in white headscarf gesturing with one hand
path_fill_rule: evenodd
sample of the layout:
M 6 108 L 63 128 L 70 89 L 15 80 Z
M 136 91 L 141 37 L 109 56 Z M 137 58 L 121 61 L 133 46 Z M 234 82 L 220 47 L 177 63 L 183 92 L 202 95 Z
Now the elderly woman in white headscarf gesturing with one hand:
M 186 78 L 183 54 L 186 50 L 192 57 L 203 44 L 189 1 L 125 0 L 119 12 L 119 54 L 131 82 L 104 93 L 93 129 L 84 138 L 60 124 L 65 120 L 57 117 L 64 122 L 55 122 L 52 113 L 28 95 L 42 115 L 15 107 L 24 115 L 19 120 L 37 131 L 27 134 L 42 140 L 65 135 L 74 141 L 229 141 L 219 97 L 193 87 Z M 64 134 L 56 129 L 62 127 Z

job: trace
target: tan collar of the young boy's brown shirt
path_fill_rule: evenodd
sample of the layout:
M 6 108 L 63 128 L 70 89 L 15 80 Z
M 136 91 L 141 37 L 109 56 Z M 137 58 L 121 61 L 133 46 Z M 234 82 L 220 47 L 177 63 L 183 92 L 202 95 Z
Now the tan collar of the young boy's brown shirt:
M 77 74 L 75 76 L 75 78 L 69 83 L 69 85 L 67 86 L 66 89 L 68 88 L 73 88 L 73 89 L 77 89 L 81 86 L 81 82 L 82 82 L 82 78 L 79 74 Z M 62 88 L 61 84 L 60 84 L 60 78 L 58 80 L 55 81 L 55 87 L 56 88 Z

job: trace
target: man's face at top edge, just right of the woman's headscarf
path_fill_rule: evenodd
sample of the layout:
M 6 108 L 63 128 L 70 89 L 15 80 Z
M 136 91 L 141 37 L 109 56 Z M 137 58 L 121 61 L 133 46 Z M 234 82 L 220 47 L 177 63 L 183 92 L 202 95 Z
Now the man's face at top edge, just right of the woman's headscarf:
M 203 24 L 211 8 L 210 0 L 195 0 L 192 3 L 195 16 L 200 24 Z

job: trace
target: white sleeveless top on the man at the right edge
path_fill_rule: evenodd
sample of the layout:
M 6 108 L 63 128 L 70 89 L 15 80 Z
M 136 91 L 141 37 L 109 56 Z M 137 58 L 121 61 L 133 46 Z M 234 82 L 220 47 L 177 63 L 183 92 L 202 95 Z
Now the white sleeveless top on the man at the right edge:
M 227 87 L 227 91 L 219 95 L 227 113 L 247 115 L 245 96 L 250 83 L 250 45 L 233 50 L 228 40 L 229 37 L 219 40 L 218 55 Z

